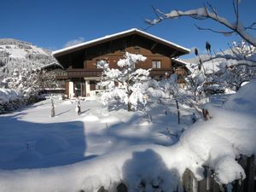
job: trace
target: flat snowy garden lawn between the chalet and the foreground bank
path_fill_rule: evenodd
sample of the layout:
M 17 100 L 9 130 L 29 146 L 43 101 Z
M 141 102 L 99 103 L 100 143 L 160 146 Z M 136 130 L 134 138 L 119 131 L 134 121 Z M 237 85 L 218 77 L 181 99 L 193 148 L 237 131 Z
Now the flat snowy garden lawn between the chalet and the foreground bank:
M 184 112 L 183 124 L 177 125 L 176 114 L 172 113 L 174 107 L 174 103 L 168 107 L 151 103 L 148 114 L 152 123 L 149 123 L 150 117 L 144 113 L 128 113 L 121 107 L 108 111 L 96 101 L 81 101 L 79 116 L 75 101 L 58 99 L 55 99 L 56 116 L 50 118 L 50 101 L 38 102 L 0 116 L 0 168 L 62 166 L 131 145 L 172 145 L 177 139 L 168 137 L 168 131 L 178 133 L 190 123 Z

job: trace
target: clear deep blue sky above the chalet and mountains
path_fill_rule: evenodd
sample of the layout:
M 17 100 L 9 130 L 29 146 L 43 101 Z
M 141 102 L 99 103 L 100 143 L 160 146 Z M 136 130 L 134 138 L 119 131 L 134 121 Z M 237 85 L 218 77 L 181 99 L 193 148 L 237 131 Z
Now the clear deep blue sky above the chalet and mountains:
M 146 28 L 143 19 L 154 19 L 155 8 L 168 12 L 172 9 L 196 9 L 203 0 L 2 0 L 0 2 L 0 38 L 16 38 L 48 49 L 61 49 L 72 40 L 88 41 L 130 28 Z M 208 1 L 219 15 L 233 20 L 232 0 Z M 244 25 L 256 21 L 256 1 L 241 0 L 241 20 Z M 226 49 L 228 43 L 239 40 L 237 35 L 223 35 L 198 31 L 194 25 L 222 28 L 211 20 L 180 18 L 165 20 L 148 28 L 147 32 L 183 45 L 197 47 L 201 53 L 205 42 L 212 49 Z M 252 32 L 256 36 L 256 32 Z

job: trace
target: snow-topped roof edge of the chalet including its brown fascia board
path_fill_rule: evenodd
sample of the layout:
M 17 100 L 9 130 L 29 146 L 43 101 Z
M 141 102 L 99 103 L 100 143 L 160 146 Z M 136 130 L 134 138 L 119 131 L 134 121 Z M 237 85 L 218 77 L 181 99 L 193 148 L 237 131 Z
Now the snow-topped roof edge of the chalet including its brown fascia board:
M 137 28 L 132 28 L 132 29 L 124 31 L 124 32 L 114 33 L 112 35 L 107 35 L 107 36 L 104 36 L 102 38 L 96 38 L 94 40 L 90 40 L 90 41 L 84 42 L 82 44 L 76 44 L 76 45 L 73 45 L 73 46 L 70 46 L 70 47 L 67 47 L 67 48 L 64 48 L 64 49 L 55 50 L 55 51 L 52 52 L 52 54 L 55 55 L 55 56 L 63 55 L 65 53 L 70 53 L 70 52 L 73 52 L 73 51 L 78 50 L 78 49 L 83 49 L 85 47 L 90 47 L 90 45 L 92 45 L 92 44 L 101 43 L 102 41 L 106 41 L 106 40 L 108 41 L 112 38 L 119 38 L 119 37 L 122 37 L 124 35 L 129 35 L 131 33 L 137 33 L 137 34 L 146 36 L 147 38 L 154 39 L 155 41 L 159 41 L 160 43 L 166 44 L 166 45 L 168 45 L 168 46 L 170 46 L 174 49 L 179 49 L 179 50 L 183 51 L 184 54 L 190 52 L 190 49 L 184 48 L 183 46 L 180 46 L 178 44 L 174 44 L 174 43 L 172 43 L 170 41 L 167 41 L 163 38 L 156 37 L 152 34 L 149 34 L 148 32 L 143 32 L 141 30 L 138 30 Z

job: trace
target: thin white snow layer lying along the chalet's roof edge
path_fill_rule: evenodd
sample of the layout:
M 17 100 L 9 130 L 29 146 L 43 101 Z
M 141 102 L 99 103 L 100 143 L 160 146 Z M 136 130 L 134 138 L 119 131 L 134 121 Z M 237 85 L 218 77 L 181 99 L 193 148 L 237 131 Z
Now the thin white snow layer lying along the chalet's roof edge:
M 119 35 L 123 35 L 123 34 L 129 33 L 129 32 L 138 32 L 138 33 L 141 33 L 141 34 L 143 34 L 143 35 L 145 35 L 145 36 L 148 36 L 148 37 L 150 37 L 150 38 L 154 38 L 154 39 L 156 39 L 156 40 L 159 40 L 159 41 L 161 41 L 161 42 L 164 42 L 164 43 L 166 43 L 166 44 L 169 44 L 170 46 L 176 47 L 177 49 L 182 49 L 182 50 L 185 51 L 185 52 L 190 52 L 190 49 L 184 48 L 183 46 L 180 46 L 180 45 L 178 45 L 178 44 L 174 44 L 174 43 L 172 43 L 172 42 L 170 42 L 170 41 L 167 41 L 167 40 L 165 40 L 165 39 L 163 39 L 163 38 L 156 37 L 156 36 L 154 36 L 154 35 L 149 34 L 148 32 L 143 32 L 143 31 L 141 31 L 141 30 L 138 30 L 137 28 L 132 28 L 132 29 L 127 30 L 127 31 L 124 31 L 124 32 L 114 33 L 114 34 L 112 34 L 112 35 L 107 35 L 107 36 L 104 36 L 104 37 L 102 37 L 102 38 L 96 38 L 96 39 L 93 39 L 93 40 L 84 42 L 84 43 L 82 43 L 82 44 L 75 44 L 75 45 L 73 45 L 73 46 L 70 46 L 70 47 L 67 47 L 67 48 L 64 48 L 64 49 L 55 50 L 55 51 L 52 52 L 52 54 L 53 54 L 53 55 L 57 55 L 57 54 L 59 54 L 59 53 L 65 52 L 65 51 L 67 51 L 67 50 L 72 50 L 72 49 L 76 49 L 76 48 L 82 47 L 82 46 L 84 46 L 84 45 L 89 45 L 89 44 L 93 44 L 93 43 L 96 43 L 96 42 L 100 42 L 100 41 L 106 40 L 106 39 L 108 39 L 108 38 L 114 38 L 114 37 L 117 37 L 117 36 L 119 36 Z

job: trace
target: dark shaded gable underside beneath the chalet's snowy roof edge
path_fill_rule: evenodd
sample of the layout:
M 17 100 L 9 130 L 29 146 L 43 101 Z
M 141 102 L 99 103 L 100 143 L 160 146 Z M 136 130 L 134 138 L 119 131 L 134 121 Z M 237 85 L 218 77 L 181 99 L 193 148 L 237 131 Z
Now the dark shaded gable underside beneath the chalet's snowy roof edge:
M 124 37 L 111 40 L 108 39 L 108 41 L 101 42 L 101 44 L 90 44 L 90 46 L 86 48 L 76 49 L 73 50 L 73 52 L 68 52 L 63 55 L 55 55 L 55 58 L 65 68 L 73 66 L 74 64 L 78 68 L 83 68 L 84 61 L 92 61 L 99 57 L 104 59 L 106 55 L 111 54 L 121 58 L 125 51 L 136 53 L 135 51 L 131 51 L 131 49 L 136 47 L 148 50 L 146 52 L 143 51 L 143 53 L 137 53 L 145 56 L 162 55 L 163 57 L 172 58 L 180 54 L 179 50 L 177 49 L 170 48 L 166 44 L 160 44 L 159 42 L 155 42 L 153 39 L 134 33 Z

